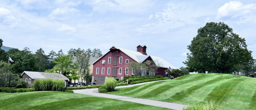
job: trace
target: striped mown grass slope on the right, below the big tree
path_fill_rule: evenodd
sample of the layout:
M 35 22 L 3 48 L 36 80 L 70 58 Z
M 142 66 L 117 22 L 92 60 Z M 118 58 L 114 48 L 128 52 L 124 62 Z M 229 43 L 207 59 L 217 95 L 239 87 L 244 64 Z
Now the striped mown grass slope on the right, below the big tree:
M 226 110 L 256 110 L 256 78 L 230 74 L 189 74 L 170 81 L 158 81 L 116 89 L 106 94 L 159 100 L 178 104 L 220 101 Z

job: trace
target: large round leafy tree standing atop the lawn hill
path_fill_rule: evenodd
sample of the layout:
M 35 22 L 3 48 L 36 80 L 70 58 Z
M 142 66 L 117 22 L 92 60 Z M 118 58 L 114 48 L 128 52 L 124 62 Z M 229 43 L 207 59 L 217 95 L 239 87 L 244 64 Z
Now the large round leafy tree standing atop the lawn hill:
M 187 54 L 187 61 L 183 62 L 192 68 L 189 70 L 232 73 L 239 65 L 252 59 L 245 39 L 225 23 L 206 23 L 197 33 L 188 45 L 190 54 Z

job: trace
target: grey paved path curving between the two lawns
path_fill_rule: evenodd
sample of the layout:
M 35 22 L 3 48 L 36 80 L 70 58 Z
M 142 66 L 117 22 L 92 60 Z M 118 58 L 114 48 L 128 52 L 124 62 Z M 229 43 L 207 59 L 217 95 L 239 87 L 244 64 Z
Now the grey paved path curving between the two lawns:
M 160 81 L 168 81 L 168 80 L 160 80 Z M 156 81 L 152 81 L 152 82 L 156 82 Z M 146 84 L 146 83 L 150 83 L 150 82 L 144 82 L 144 83 L 133 84 L 133 85 L 128 85 L 128 86 L 118 86 L 116 88 L 132 87 L 132 86 L 142 85 L 142 84 Z M 98 88 L 97 89 L 80 89 L 80 90 L 73 90 L 73 91 L 74 91 L 74 93 L 77 93 L 77 94 L 86 94 L 86 95 L 93 95 L 93 96 L 98 96 L 98 97 L 106 97 L 106 98 L 111 98 L 111 99 L 135 102 L 135 103 L 139 103 L 139 104 L 170 108 L 170 109 L 174 109 L 174 110 L 182 110 L 182 107 L 186 106 L 186 105 L 182 105 L 182 104 L 175 104 L 175 103 L 162 102 L 162 101 L 156 101 L 156 100 L 148 100 L 148 99 L 139 99 L 139 98 L 133 98 L 133 97 L 119 96 L 119 95 L 102 94 L 102 93 L 98 93 Z

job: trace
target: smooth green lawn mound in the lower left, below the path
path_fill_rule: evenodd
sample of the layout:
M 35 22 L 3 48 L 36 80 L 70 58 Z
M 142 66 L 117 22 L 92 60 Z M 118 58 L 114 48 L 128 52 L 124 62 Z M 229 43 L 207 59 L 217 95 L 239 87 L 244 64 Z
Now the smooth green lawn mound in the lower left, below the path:
M 0 110 L 170 110 L 69 92 L 0 92 Z

